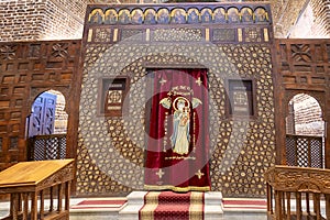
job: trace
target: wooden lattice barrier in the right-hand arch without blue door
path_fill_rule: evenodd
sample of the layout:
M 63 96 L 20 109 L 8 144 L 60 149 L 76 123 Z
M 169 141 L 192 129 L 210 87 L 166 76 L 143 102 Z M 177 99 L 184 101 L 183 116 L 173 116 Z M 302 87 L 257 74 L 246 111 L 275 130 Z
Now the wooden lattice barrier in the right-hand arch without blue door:
M 286 160 L 289 166 L 323 167 L 321 136 L 286 135 Z

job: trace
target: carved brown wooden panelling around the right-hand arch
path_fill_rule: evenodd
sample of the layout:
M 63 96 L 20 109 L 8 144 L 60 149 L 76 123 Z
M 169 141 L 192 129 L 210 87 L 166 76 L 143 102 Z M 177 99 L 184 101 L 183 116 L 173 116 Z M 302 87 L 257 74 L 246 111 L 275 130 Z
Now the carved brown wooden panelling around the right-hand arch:
M 278 75 L 275 86 L 277 140 L 277 164 L 287 164 L 285 150 L 285 118 L 288 116 L 288 102 L 298 94 L 314 97 L 322 109 L 322 119 L 330 120 L 330 56 L 329 40 L 276 40 L 274 68 Z M 330 130 L 327 127 L 326 136 Z M 326 167 L 330 167 L 330 140 L 326 139 Z

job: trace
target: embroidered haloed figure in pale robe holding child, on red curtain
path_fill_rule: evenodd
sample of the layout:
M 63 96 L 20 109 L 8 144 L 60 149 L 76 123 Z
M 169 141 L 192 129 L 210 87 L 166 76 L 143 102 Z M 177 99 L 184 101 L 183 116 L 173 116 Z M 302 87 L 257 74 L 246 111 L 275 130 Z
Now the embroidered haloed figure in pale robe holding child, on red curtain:
M 166 109 L 170 108 L 170 99 L 164 98 L 161 105 Z M 198 107 L 201 101 L 193 98 L 193 109 Z M 170 143 L 174 153 L 188 154 L 190 143 L 190 102 L 185 97 L 177 97 L 173 101 L 173 133 L 170 135 Z

